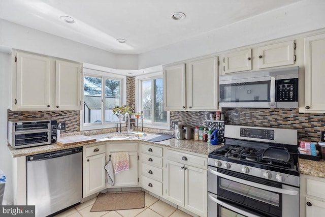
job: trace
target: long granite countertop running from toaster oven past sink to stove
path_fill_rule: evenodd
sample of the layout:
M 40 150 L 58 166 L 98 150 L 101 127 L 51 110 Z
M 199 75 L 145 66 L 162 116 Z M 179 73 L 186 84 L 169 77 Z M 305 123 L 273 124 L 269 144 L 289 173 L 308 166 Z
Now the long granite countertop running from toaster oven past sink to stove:
M 20 148 L 20 149 L 14 149 L 10 145 L 8 145 L 9 151 L 12 154 L 14 158 L 21 157 L 21 156 L 29 156 L 32 154 L 39 154 L 39 153 L 45 153 L 50 151 L 57 151 L 57 150 L 63 150 L 63 149 L 69 149 L 74 147 L 81 147 L 81 146 L 87 146 L 92 144 L 98 144 L 101 142 L 131 142 L 131 141 L 141 141 L 156 145 L 161 145 L 165 147 L 171 147 L 174 149 L 179 149 L 182 151 L 188 151 L 198 154 L 203 154 L 206 157 L 208 157 L 208 154 L 212 152 L 213 150 L 221 147 L 222 145 L 211 145 L 206 142 L 202 141 L 196 141 L 196 140 L 177 140 L 176 138 L 164 140 L 161 142 L 151 142 L 147 140 L 141 140 L 137 138 L 134 139 L 114 139 L 109 140 L 106 137 L 108 136 L 114 136 L 117 135 L 116 133 L 105 133 L 105 134 L 96 134 L 96 135 L 88 135 L 89 137 L 95 138 L 95 142 L 89 142 L 89 143 L 83 143 L 83 144 L 77 144 L 77 145 L 69 145 L 69 146 L 60 146 L 57 144 L 50 144 L 50 145 L 42 145 L 42 146 L 36 146 L 36 147 L 29 147 L 29 148 Z M 147 134 L 150 135 L 150 134 Z

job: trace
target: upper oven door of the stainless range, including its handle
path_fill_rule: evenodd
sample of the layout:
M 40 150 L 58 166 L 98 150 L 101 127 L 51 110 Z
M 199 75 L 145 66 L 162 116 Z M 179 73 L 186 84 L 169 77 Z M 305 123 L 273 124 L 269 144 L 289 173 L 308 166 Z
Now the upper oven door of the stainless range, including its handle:
M 299 189 L 280 182 L 209 166 L 208 192 L 254 213 L 248 216 L 299 216 Z

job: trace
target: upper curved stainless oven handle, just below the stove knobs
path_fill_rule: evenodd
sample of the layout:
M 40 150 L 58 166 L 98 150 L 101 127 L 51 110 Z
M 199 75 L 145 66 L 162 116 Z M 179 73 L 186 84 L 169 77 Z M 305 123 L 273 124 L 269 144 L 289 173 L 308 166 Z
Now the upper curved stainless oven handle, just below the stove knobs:
M 210 173 L 212 173 L 214 175 L 217 175 L 217 176 L 220 176 L 222 178 L 226 178 L 226 179 L 229 179 L 229 180 L 232 180 L 232 181 L 236 181 L 236 182 L 239 182 L 239 183 L 242 183 L 242 184 L 247 184 L 247 185 L 250 185 L 250 186 L 255 187 L 255 188 L 264 189 L 264 190 L 267 190 L 267 191 L 272 191 L 272 192 L 285 194 L 285 195 L 297 195 L 298 194 L 298 191 L 291 191 L 291 190 L 286 190 L 286 189 L 278 189 L 278 188 L 271 187 L 271 186 L 268 186 L 268 185 L 259 184 L 259 183 L 256 183 L 256 182 L 251 182 L 251 181 L 243 180 L 243 179 L 240 179 L 240 178 L 237 178 L 237 177 L 234 177 L 234 176 L 226 175 L 226 174 L 223 174 L 223 173 L 211 170 L 211 169 L 208 169 L 208 170 L 209 170 Z

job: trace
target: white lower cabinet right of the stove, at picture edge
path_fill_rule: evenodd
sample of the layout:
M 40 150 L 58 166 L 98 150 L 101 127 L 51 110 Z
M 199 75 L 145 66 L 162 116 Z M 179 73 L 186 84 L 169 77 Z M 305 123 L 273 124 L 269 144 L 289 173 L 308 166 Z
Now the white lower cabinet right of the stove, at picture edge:
M 301 174 L 300 217 L 319 217 L 325 213 L 325 178 Z

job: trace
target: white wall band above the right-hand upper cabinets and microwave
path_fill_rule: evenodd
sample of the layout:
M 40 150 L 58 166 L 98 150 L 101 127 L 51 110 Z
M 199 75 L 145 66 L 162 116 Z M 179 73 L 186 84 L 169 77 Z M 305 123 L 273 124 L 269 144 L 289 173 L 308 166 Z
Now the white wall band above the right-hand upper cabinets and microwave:
M 298 2 L 140 54 L 139 69 L 325 28 L 324 20 L 325 1 Z

